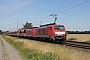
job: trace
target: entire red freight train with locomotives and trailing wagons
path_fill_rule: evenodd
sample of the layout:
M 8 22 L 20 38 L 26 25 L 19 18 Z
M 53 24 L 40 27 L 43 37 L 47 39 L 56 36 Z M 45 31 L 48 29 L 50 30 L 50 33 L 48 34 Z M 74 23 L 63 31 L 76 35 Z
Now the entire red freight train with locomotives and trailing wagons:
M 67 36 L 65 26 L 56 23 L 40 25 L 40 27 L 33 27 L 31 29 L 7 32 L 7 35 L 59 42 L 65 42 Z

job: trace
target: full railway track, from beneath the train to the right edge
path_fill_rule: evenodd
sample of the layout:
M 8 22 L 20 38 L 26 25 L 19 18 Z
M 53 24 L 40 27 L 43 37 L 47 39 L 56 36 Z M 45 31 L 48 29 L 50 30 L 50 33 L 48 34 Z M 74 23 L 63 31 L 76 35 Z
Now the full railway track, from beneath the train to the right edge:
M 29 38 L 27 38 L 29 39 Z M 33 39 L 31 39 L 33 40 Z M 36 40 L 35 41 L 41 41 L 41 42 L 47 42 L 47 43 L 53 43 L 53 44 L 60 44 L 60 45 L 65 45 L 65 46 L 70 46 L 70 47 L 76 47 L 76 48 L 82 48 L 82 49 L 90 49 L 90 43 L 85 43 L 85 42 L 75 42 L 75 41 L 65 41 L 65 43 L 62 42 L 51 42 L 51 41 L 43 41 L 43 40 Z

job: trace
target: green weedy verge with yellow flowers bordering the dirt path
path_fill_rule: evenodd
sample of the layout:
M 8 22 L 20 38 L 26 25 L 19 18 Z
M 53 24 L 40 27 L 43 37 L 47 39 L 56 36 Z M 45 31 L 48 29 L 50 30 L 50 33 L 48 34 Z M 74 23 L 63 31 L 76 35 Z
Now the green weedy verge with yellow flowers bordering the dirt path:
M 51 52 L 42 53 L 35 49 L 28 49 L 23 42 L 15 41 L 15 38 L 7 38 L 6 41 L 14 46 L 27 60 L 55 60 L 55 55 Z

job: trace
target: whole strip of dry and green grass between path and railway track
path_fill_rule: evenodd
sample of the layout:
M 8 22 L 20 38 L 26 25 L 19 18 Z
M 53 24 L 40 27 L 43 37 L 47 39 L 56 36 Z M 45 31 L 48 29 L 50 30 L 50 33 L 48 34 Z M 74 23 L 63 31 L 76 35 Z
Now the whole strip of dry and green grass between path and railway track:
M 16 37 L 4 36 L 10 40 L 28 60 L 90 60 L 90 51 L 60 46 Z M 20 45 L 20 46 L 19 46 Z M 27 54 L 28 53 L 28 54 Z

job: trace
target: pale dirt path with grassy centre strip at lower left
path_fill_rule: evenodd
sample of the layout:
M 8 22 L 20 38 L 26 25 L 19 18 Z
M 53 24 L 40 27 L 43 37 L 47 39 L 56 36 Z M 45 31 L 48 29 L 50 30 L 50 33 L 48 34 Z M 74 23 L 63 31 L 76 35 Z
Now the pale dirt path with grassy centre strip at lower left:
M 12 48 L 1 36 L 0 36 L 0 60 L 24 60 L 19 55 L 19 52 Z

